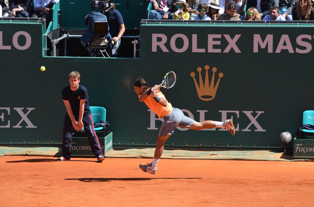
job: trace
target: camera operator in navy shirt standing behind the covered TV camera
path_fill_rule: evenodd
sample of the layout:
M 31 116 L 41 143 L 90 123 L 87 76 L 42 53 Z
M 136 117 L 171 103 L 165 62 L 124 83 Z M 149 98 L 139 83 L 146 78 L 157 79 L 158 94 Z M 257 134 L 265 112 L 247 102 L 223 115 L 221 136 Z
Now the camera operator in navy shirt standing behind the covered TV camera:
M 121 43 L 121 37 L 123 33 L 125 32 L 125 26 L 123 23 L 122 14 L 116 10 L 116 4 L 113 3 L 112 0 L 103 0 L 104 2 L 110 3 L 110 7 L 108 12 L 105 12 L 105 15 L 107 17 L 108 26 L 109 26 L 109 33 L 111 35 L 111 39 L 113 41 L 112 44 L 109 44 L 111 49 L 109 49 L 109 54 L 111 54 L 111 57 L 118 56 L 119 54 L 119 46 Z M 111 53 L 112 52 L 112 53 Z

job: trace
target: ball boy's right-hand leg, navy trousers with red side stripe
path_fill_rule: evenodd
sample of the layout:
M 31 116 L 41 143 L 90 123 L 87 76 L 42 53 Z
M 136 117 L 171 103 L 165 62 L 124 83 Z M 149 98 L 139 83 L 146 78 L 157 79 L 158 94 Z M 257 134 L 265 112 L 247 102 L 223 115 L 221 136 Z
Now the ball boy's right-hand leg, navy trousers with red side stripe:
M 93 122 L 92 115 L 89 114 L 87 116 L 83 116 L 82 121 L 84 124 L 84 130 L 87 134 L 87 138 L 88 138 L 89 145 L 90 145 L 92 152 L 95 154 L 98 161 L 105 160 L 105 158 L 102 154 L 102 151 L 100 149 L 100 143 L 99 143 L 98 137 L 97 137 L 95 129 L 94 129 L 94 122 Z

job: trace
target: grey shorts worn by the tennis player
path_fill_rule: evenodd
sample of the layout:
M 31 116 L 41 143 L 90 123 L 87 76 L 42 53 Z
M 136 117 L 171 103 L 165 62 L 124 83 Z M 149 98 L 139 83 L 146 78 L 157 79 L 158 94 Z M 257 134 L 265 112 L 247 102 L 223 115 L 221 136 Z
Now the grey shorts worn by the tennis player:
M 188 128 L 194 124 L 194 120 L 185 116 L 180 109 L 173 108 L 172 112 L 164 116 L 164 123 L 161 125 L 158 136 L 164 137 L 172 134 L 176 127 Z

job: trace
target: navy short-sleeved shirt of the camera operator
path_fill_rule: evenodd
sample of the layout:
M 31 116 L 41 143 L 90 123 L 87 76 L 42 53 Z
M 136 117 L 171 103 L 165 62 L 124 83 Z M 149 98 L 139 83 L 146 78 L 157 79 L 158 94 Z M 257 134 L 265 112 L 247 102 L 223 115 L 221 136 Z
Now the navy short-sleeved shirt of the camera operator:
M 122 14 L 114 9 L 106 12 L 105 15 L 109 24 L 109 33 L 111 37 L 117 37 L 120 32 L 119 25 L 123 24 Z

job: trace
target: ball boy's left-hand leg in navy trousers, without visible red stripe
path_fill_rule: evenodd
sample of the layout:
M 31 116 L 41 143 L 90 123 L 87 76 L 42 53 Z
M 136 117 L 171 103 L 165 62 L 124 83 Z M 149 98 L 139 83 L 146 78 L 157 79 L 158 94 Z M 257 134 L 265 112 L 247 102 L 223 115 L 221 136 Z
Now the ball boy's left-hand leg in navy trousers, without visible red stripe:
M 75 131 L 68 114 L 64 117 L 62 131 L 62 157 L 56 161 L 67 161 L 71 158 L 72 133 Z

